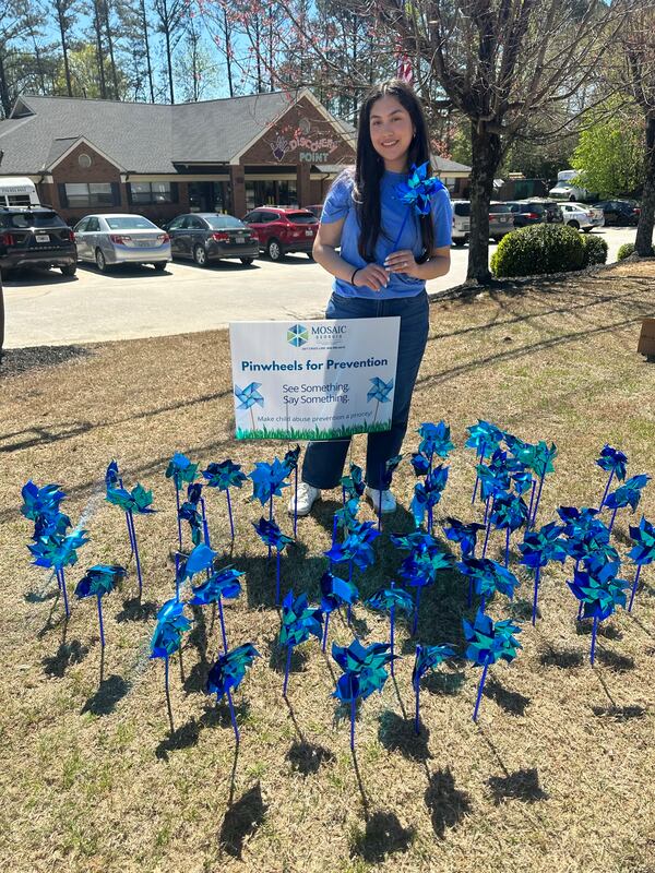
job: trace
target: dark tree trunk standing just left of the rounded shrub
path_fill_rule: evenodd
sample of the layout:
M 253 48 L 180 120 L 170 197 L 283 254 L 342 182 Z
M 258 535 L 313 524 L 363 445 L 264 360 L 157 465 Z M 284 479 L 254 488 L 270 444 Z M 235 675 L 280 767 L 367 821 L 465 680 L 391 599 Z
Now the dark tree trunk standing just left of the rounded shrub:
M 484 121 L 471 124 L 473 160 L 471 167 L 471 236 L 468 238 L 467 279 L 488 283 L 489 272 L 489 201 L 493 179 L 502 159 L 500 136 L 490 133 Z

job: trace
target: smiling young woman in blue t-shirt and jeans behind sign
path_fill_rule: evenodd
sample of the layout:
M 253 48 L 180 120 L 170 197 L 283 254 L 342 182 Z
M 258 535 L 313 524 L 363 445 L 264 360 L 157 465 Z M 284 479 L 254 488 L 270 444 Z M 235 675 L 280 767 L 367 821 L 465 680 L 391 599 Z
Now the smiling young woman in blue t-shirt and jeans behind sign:
M 426 122 L 414 91 L 396 79 L 376 85 L 359 112 L 357 164 L 330 189 L 313 247 L 314 260 L 334 276 L 326 319 L 401 318 L 391 430 L 370 433 L 367 445 L 366 495 L 383 513 L 395 510 L 395 500 L 391 491 L 380 495 L 381 475 L 401 450 L 428 338 L 426 280 L 450 270 L 452 211 L 443 187 L 431 195 L 428 215 L 412 210 L 395 250 L 393 246 L 408 208 L 395 188 L 407 180 L 412 165 L 429 159 Z M 308 445 L 298 515 L 310 512 L 321 489 L 338 485 L 349 442 Z

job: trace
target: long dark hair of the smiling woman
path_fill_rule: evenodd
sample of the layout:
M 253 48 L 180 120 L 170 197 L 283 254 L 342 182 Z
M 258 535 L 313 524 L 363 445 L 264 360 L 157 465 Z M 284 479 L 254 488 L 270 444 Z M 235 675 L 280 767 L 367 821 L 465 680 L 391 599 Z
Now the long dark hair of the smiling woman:
M 424 117 L 422 107 L 418 97 L 406 82 L 401 79 L 390 79 L 368 92 L 359 110 L 359 127 L 357 132 L 357 164 L 355 166 L 354 196 L 359 218 L 359 254 L 365 261 L 371 263 L 376 260 L 376 243 L 381 227 L 380 210 L 380 180 L 384 174 L 384 160 L 373 148 L 370 133 L 371 107 L 380 97 L 395 97 L 401 106 L 409 112 L 409 118 L 415 129 L 414 139 L 407 154 L 407 165 L 428 162 L 428 176 L 432 175 L 430 160 L 430 146 L 428 143 L 428 129 Z M 429 258 L 434 246 L 434 228 L 431 215 L 419 216 L 420 236 L 424 247 L 421 258 Z

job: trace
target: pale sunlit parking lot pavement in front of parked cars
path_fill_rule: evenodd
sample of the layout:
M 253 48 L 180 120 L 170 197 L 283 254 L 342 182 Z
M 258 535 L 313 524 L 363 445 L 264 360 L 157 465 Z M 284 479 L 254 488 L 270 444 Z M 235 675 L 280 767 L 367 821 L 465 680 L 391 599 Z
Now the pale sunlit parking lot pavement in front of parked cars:
M 607 240 L 609 262 L 635 236 L 634 228 L 593 232 Z M 467 258 L 467 247 L 453 248 L 451 272 L 428 283 L 428 290 L 462 284 Z M 165 273 L 133 266 L 100 274 L 87 264 L 72 278 L 33 271 L 5 283 L 4 346 L 135 339 L 215 330 L 230 321 L 321 318 L 330 287 L 330 276 L 303 254 L 278 263 L 262 258 L 251 266 L 223 261 L 202 268 L 175 262 Z

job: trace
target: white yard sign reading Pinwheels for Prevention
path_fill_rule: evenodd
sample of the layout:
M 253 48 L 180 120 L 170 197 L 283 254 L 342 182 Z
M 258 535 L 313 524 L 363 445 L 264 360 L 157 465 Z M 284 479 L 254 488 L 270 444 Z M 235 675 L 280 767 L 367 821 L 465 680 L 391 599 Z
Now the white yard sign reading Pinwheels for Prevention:
M 401 320 L 234 322 L 238 440 L 331 440 L 389 430 Z

